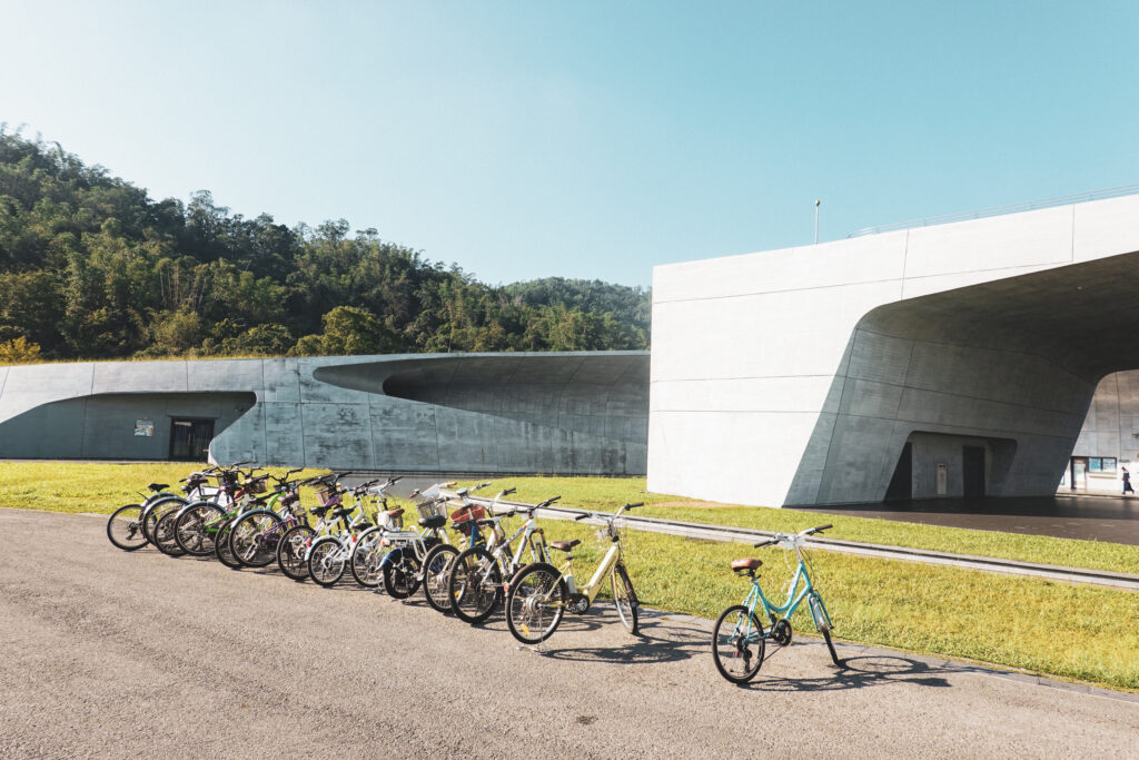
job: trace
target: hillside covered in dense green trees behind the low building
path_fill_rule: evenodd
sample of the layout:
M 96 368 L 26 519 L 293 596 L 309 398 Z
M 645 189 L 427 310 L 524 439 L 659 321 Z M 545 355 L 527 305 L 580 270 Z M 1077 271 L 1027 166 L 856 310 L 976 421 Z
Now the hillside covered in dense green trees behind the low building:
M 344 220 L 153 201 L 0 125 L 0 361 L 646 349 L 648 314 L 641 288 L 493 287 Z

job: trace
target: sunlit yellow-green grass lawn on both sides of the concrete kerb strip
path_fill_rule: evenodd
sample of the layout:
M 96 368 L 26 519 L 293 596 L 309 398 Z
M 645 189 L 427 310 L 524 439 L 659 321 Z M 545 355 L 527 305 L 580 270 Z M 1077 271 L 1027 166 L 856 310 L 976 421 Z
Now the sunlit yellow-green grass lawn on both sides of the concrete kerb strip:
M 138 484 L 177 482 L 186 464 L 0 464 L 0 505 L 56 512 L 110 512 L 137 500 Z M 674 497 L 642 493 L 644 479 L 502 479 L 519 500 L 563 495 L 567 507 L 612 510 L 646 501 L 641 512 L 693 522 L 794 530 L 833 522 L 834 536 L 859 541 L 1014 556 L 1133 572 L 1134 547 L 1065 541 L 755 507 L 673 507 Z M 489 491 L 492 489 L 487 489 Z M 305 493 L 305 501 L 311 496 Z M 656 505 L 656 506 L 653 506 Z M 592 528 L 547 521 L 551 540 L 581 538 L 575 553 L 588 573 L 604 551 Z M 1021 539 L 1026 539 L 1022 542 Z M 1039 540 L 1034 540 L 1039 539 Z M 1088 545 L 1088 546 L 1073 546 Z M 641 600 L 652 607 L 714 619 L 737 603 L 746 583 L 728 570 L 737 556 L 759 556 L 775 596 L 790 573 L 782 551 L 626 531 L 625 558 Z M 1060 559 L 1063 557 L 1063 559 Z M 1139 594 L 954 567 L 814 553 L 816 580 L 836 622 L 836 638 L 966 657 L 1033 672 L 1139 690 Z M 793 620 L 811 632 L 804 610 Z M 825 659 L 820 652 L 819 657 Z M 711 670 L 711 664 L 710 664 Z

